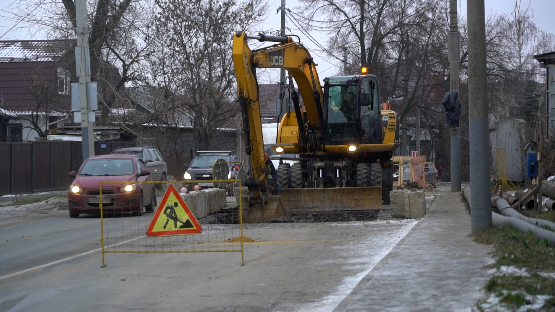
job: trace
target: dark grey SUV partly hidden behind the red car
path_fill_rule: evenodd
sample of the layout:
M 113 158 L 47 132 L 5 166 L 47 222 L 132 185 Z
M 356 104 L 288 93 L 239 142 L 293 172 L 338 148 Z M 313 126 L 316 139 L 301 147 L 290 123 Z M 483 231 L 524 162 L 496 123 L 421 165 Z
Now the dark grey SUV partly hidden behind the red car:
M 147 169 L 150 171 L 154 181 L 168 180 L 168 164 L 164 162 L 162 154 L 155 147 L 118 147 L 110 154 L 137 155 L 147 164 Z M 159 183 L 157 187 L 163 189 L 164 185 Z

